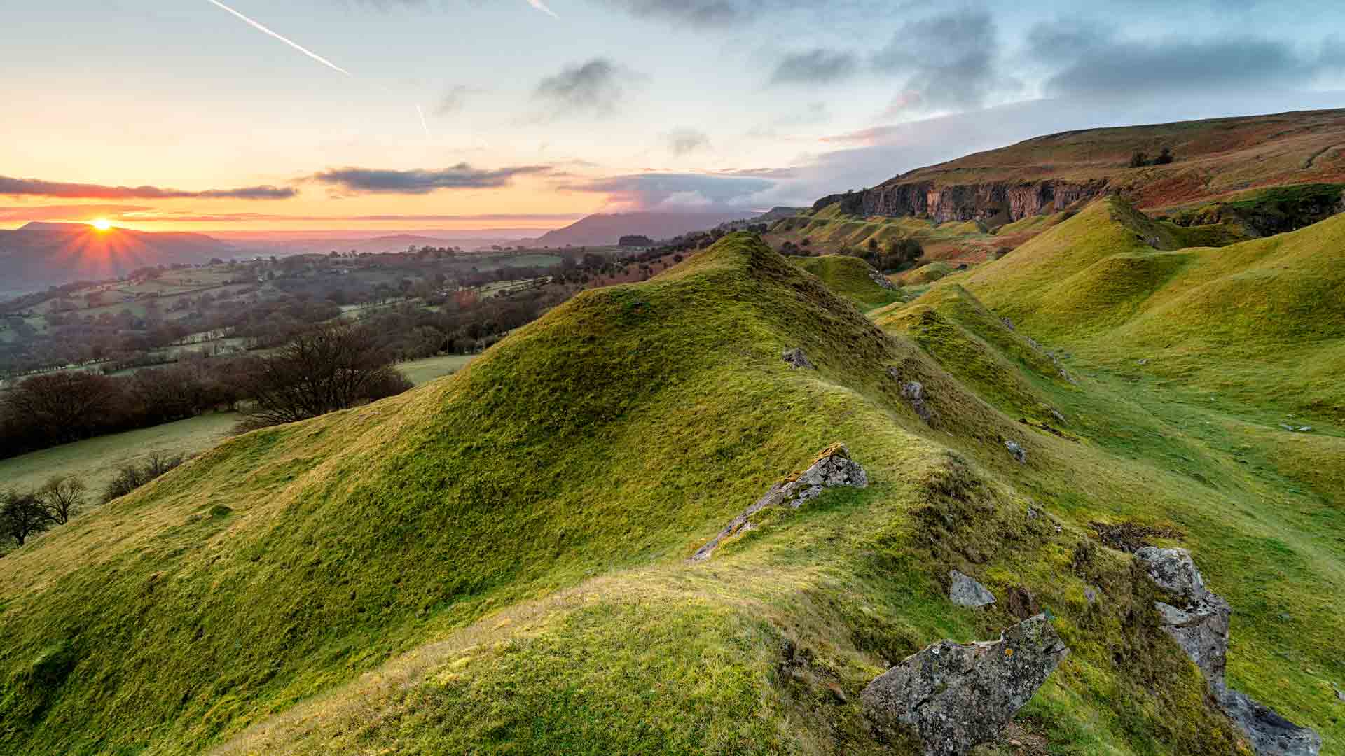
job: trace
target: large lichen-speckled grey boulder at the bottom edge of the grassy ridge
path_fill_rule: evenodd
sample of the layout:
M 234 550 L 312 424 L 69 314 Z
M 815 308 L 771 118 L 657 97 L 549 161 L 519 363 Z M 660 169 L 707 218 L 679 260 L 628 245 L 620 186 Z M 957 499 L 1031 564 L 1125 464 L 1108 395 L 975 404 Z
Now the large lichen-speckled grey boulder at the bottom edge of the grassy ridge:
M 989 743 L 1069 654 L 1045 615 L 999 640 L 940 640 L 863 689 L 863 712 L 878 728 L 909 728 L 925 756 L 962 756 Z

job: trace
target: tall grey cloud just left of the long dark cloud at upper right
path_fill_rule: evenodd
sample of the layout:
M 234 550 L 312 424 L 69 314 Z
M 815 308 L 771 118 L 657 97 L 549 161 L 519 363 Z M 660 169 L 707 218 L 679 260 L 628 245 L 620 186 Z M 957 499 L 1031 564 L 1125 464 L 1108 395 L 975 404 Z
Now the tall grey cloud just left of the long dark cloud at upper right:
M 873 55 L 876 73 L 905 79 L 889 114 L 979 106 L 998 81 L 999 44 L 986 11 L 962 9 L 907 22 Z

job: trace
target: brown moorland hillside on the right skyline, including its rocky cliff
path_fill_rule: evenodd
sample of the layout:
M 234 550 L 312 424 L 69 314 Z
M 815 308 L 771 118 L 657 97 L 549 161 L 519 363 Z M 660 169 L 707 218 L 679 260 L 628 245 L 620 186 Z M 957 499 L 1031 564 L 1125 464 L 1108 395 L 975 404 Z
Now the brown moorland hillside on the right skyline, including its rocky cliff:
M 1165 147 L 1174 163 L 1128 167 L 1135 152 L 1153 157 Z M 1170 209 L 1264 187 L 1345 182 L 1341 147 L 1340 109 L 1061 132 L 826 196 L 815 209 L 842 202 L 854 215 L 990 226 L 1118 192 L 1141 209 Z

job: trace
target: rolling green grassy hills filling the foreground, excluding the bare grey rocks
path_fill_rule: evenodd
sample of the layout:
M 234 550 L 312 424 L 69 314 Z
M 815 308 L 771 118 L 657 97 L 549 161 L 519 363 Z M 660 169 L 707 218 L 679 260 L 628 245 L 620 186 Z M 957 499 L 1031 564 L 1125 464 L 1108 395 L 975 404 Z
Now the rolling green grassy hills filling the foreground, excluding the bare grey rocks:
M 732 234 L 452 377 L 226 441 L 0 560 L 0 752 L 902 753 L 863 686 L 1017 620 L 952 605 L 950 569 L 1054 617 L 1072 654 L 1018 717 L 1053 753 L 1245 752 L 1098 523 L 1190 549 L 1237 608 L 1231 682 L 1340 749 L 1341 417 L 1290 434 L 1275 418 L 1303 402 L 1244 369 L 1210 402 L 1217 365 L 1087 348 L 1157 355 L 1166 319 L 1162 355 L 1194 354 L 1194 317 L 1236 307 L 1243 276 L 1328 276 L 1311 296 L 1338 323 L 1334 253 L 1311 249 L 1340 226 L 1177 252 L 1137 239 L 1181 243 L 1150 223 L 1093 204 L 876 320 L 845 299 L 884 304 L 853 270 Z M 1266 301 L 1250 323 L 1298 313 Z M 1295 323 L 1264 343 L 1345 355 Z M 763 510 L 687 562 L 838 443 L 870 487 Z

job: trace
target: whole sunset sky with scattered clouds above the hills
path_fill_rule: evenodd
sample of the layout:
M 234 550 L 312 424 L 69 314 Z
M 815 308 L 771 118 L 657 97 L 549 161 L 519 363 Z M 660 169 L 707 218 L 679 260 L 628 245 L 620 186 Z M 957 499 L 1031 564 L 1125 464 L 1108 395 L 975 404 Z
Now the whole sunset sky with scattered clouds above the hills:
M 550 229 L 1345 106 L 1345 4 L 3 0 L 0 227 Z

